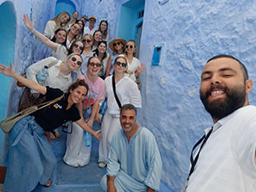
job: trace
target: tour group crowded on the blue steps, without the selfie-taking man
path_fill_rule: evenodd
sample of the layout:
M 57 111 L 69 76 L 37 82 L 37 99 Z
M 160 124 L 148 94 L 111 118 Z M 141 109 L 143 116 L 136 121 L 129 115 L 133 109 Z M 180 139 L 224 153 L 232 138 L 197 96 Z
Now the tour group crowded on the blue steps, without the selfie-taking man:
M 53 102 L 18 121 L 12 128 L 4 189 L 27 192 L 35 189 L 38 183 L 50 186 L 56 158 L 49 142 L 61 137 L 58 127 L 67 127 L 67 146 L 62 158 L 66 164 L 73 167 L 89 164 L 92 145 L 85 145 L 88 139 L 85 135 L 92 134 L 99 139 L 99 168 L 110 167 L 110 170 L 107 168 L 107 181 L 102 182 L 103 188 L 126 191 L 136 183 L 135 191 L 158 190 L 162 162 L 156 139 L 148 129 L 135 124 L 136 108 L 142 107 L 137 77 L 144 70 L 144 65 L 134 57 L 136 43 L 121 38 L 107 42 L 108 23 L 105 20 L 96 29 L 93 15 L 82 16 L 81 20 L 78 17 L 77 11 L 71 16 L 62 11 L 47 22 L 41 34 L 35 30 L 33 19 L 23 15 L 24 25 L 53 49 L 52 56 L 30 65 L 26 77 L 18 75 L 12 63 L 10 67 L 0 65 L 0 73 L 16 78 L 29 89 L 26 92 L 29 96 L 22 94 L 19 110 L 27 108 L 31 100 Z M 87 21 L 89 24 L 85 27 Z M 107 52 L 107 46 L 112 54 Z M 39 76 L 46 69 L 48 76 L 42 83 Z M 105 103 L 105 114 L 99 114 Z M 103 119 L 100 115 L 104 115 Z M 95 131 L 95 127 L 101 129 Z M 127 144 L 113 149 L 117 144 L 113 146 L 112 139 L 119 134 L 125 135 L 126 141 L 122 142 Z M 125 152 L 125 145 L 131 150 Z M 124 161 L 120 162 L 117 155 Z M 120 177 L 118 172 L 122 173 Z M 115 183 L 108 186 L 108 180 L 115 180 Z

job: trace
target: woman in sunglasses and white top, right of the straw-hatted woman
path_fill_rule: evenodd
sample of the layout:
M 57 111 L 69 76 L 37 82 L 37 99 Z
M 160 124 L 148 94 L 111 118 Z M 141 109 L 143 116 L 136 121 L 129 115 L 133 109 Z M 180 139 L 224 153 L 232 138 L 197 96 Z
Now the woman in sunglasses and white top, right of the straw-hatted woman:
M 125 59 L 128 61 L 128 66 L 125 71 L 125 76 L 136 81 L 138 74 L 144 71 L 144 64 L 140 64 L 139 60 L 134 57 L 136 53 L 136 42 L 128 40 L 125 46 Z

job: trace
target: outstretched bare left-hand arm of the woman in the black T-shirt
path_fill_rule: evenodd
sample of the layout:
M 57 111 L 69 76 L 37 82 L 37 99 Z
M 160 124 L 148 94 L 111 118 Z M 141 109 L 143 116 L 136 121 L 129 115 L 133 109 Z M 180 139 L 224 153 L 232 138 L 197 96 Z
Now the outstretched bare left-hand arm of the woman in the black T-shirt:
M 28 78 L 22 77 L 19 74 L 17 74 L 16 71 L 14 71 L 12 62 L 10 62 L 10 67 L 0 64 L 0 73 L 2 73 L 5 76 L 8 76 L 8 77 L 15 78 L 17 81 L 26 85 L 31 90 L 36 90 L 39 93 L 41 93 L 42 95 L 46 94 L 46 91 L 47 91 L 46 87 L 44 87 L 40 84 L 36 84 L 34 81 L 31 81 Z

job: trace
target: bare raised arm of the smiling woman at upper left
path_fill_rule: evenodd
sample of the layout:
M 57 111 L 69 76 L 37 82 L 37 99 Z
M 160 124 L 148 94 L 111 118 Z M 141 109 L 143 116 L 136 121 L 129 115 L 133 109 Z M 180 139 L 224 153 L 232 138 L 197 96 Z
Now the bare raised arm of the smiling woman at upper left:
M 49 40 L 45 35 L 43 35 L 40 32 L 35 30 L 33 19 L 31 18 L 31 21 L 30 21 L 29 20 L 29 15 L 23 14 L 23 19 L 22 20 L 23 20 L 25 26 L 27 28 L 29 28 L 29 31 L 32 34 L 35 34 L 35 37 L 37 37 L 37 39 L 41 40 L 44 45 L 50 47 L 54 51 L 57 50 L 57 48 L 58 48 L 58 44 L 57 43 L 53 42 L 52 40 Z

